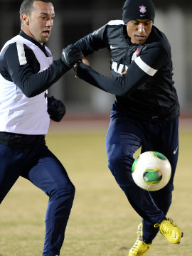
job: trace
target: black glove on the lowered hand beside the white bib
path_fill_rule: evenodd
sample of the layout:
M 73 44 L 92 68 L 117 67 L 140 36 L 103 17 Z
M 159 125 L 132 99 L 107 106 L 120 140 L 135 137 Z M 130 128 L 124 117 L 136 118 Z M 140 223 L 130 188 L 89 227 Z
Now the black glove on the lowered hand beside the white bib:
M 66 113 L 65 105 L 61 100 L 56 100 L 53 96 L 47 97 L 48 99 L 48 114 L 50 119 L 55 122 L 60 122 Z

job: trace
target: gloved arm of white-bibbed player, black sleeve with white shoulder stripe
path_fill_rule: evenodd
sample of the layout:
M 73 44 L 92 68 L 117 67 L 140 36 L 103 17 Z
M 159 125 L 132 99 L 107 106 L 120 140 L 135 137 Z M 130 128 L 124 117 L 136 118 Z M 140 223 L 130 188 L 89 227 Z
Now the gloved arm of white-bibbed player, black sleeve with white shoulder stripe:
M 18 51 L 17 43 L 13 43 L 1 53 L 0 70 L 1 75 L 13 81 L 26 97 L 34 97 L 46 91 L 81 58 L 80 51 L 70 45 L 63 49 L 60 59 L 39 72 L 40 65 L 33 50 L 22 44 Z

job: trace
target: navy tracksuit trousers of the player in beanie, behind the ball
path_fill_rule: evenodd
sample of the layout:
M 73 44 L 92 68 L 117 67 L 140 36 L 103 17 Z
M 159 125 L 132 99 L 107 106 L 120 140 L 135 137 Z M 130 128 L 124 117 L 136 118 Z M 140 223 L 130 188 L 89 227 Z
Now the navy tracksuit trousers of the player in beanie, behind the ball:
M 171 179 L 159 191 L 144 191 L 132 179 L 134 152 L 159 151 L 169 159 Z M 178 160 L 178 119 L 146 122 L 112 110 L 107 131 L 108 166 L 134 210 L 143 218 L 143 238 L 152 242 L 158 233 L 155 223 L 163 220 L 171 205 L 173 181 Z

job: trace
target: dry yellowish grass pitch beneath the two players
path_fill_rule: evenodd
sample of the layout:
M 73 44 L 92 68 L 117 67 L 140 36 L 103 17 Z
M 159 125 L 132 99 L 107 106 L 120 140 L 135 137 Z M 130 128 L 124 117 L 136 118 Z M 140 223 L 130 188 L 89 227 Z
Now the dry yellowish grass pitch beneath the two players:
M 76 194 L 65 233 L 63 256 L 125 256 L 137 238 L 141 218 L 107 168 L 105 132 L 50 133 L 47 144 L 73 181 Z M 180 132 L 173 203 L 168 216 L 181 226 L 180 245 L 158 234 L 149 256 L 192 255 L 191 133 Z M 1 204 L 0 256 L 41 256 L 48 197 L 23 178 Z

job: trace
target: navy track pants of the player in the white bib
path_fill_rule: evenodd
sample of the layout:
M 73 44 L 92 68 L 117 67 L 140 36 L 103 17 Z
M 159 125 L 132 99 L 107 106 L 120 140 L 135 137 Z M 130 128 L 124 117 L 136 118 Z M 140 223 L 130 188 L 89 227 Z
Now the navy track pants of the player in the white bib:
M 49 196 L 43 256 L 59 255 L 75 195 L 65 168 L 46 145 L 18 149 L 0 144 L 0 163 L 0 203 L 19 176 Z

